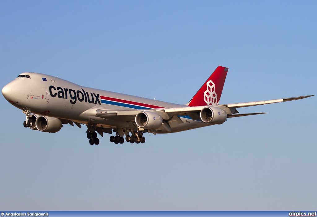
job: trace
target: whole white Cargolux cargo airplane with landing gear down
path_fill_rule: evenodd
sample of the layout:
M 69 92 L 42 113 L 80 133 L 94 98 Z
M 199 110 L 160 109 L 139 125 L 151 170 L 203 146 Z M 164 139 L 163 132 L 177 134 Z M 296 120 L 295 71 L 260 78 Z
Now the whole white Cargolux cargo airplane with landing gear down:
M 87 125 L 91 145 L 99 144 L 97 133 L 112 134 L 116 144 L 126 141 L 144 143 L 144 132 L 174 133 L 214 124 L 227 118 L 264 114 L 240 114 L 236 108 L 304 99 L 300 96 L 258 102 L 219 105 L 228 68 L 218 66 L 189 103 L 178 105 L 82 87 L 63 79 L 34 72 L 24 72 L 3 87 L 2 94 L 26 114 L 24 127 L 55 133 L 62 124 Z M 130 136 L 131 133 L 131 136 Z

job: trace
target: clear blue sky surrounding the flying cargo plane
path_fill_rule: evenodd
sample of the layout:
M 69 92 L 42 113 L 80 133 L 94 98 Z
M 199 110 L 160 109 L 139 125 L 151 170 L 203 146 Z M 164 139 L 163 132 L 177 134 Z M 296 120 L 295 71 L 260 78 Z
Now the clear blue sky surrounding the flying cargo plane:
M 0 86 L 25 71 L 184 104 L 218 65 L 220 103 L 316 94 L 316 1 L 0 1 Z M 1 210 L 310 210 L 317 97 L 145 144 L 42 133 L 0 97 Z

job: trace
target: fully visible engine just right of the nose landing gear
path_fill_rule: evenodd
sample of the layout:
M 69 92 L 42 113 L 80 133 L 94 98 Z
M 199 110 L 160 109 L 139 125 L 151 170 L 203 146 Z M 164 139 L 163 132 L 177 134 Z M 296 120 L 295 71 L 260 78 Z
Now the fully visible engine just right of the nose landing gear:
M 60 131 L 63 126 L 60 119 L 46 116 L 39 116 L 35 124 L 38 130 L 48 133 L 56 133 Z

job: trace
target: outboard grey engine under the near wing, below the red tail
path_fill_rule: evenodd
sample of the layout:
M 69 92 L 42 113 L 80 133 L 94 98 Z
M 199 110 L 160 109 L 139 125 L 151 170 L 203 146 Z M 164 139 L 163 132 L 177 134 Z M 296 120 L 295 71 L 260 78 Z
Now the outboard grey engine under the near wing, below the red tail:
M 207 106 L 201 110 L 200 119 L 207 124 L 223 124 L 227 120 L 227 113 L 220 108 Z

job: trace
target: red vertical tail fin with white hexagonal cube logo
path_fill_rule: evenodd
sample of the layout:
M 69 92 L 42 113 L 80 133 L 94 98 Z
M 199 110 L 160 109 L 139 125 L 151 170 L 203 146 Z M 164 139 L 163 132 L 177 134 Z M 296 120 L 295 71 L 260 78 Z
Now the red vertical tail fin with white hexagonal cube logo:
M 193 96 L 188 106 L 218 105 L 227 72 L 228 68 L 218 66 Z

